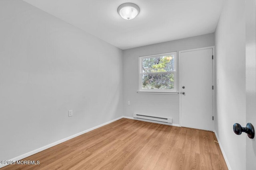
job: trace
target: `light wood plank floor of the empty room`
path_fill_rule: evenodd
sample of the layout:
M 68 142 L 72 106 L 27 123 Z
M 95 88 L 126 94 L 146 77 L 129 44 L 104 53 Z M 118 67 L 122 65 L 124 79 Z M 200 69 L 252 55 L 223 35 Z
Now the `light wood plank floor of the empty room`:
M 39 165 L 5 169 L 226 170 L 214 133 L 120 119 L 24 160 Z

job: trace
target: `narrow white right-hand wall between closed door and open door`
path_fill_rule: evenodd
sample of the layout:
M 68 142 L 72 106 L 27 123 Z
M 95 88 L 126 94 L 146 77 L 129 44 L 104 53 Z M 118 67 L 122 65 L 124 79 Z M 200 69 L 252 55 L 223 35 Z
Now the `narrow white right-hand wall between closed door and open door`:
M 245 136 L 233 124 L 246 125 L 244 0 L 226 0 L 215 32 L 216 133 L 232 170 L 246 169 Z

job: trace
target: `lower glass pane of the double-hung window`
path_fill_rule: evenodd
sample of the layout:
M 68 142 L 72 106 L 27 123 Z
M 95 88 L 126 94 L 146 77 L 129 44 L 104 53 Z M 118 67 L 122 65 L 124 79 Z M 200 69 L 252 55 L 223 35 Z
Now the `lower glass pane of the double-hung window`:
M 174 73 L 142 74 L 142 89 L 174 89 Z

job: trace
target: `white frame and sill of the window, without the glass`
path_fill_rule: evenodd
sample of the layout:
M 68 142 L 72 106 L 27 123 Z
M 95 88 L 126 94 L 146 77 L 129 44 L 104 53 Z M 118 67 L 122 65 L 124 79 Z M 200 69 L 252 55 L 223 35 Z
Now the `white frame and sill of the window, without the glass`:
M 168 72 L 154 72 L 154 73 L 146 73 L 146 74 L 166 74 L 166 73 L 174 73 L 174 89 L 167 90 L 167 89 L 142 89 L 142 75 L 143 68 L 142 68 L 142 60 L 145 58 L 154 58 L 154 57 L 162 57 L 162 56 L 168 56 L 168 55 L 174 55 L 174 70 L 168 71 Z M 140 56 L 139 57 L 139 90 L 138 93 L 154 93 L 154 94 L 178 94 L 176 83 L 177 83 L 177 76 L 176 76 L 176 70 L 177 70 L 177 52 L 170 52 L 170 53 L 161 53 L 161 54 L 155 54 L 155 55 L 147 55 L 147 56 Z

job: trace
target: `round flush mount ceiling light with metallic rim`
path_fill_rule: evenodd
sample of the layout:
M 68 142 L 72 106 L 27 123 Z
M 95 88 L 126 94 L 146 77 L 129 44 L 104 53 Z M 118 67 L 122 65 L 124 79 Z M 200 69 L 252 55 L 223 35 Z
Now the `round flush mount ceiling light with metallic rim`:
M 132 20 L 140 13 L 140 8 L 136 4 L 125 3 L 117 8 L 117 12 L 122 18 Z

